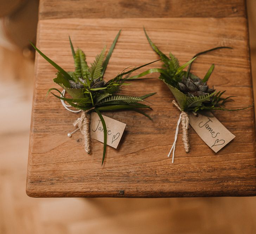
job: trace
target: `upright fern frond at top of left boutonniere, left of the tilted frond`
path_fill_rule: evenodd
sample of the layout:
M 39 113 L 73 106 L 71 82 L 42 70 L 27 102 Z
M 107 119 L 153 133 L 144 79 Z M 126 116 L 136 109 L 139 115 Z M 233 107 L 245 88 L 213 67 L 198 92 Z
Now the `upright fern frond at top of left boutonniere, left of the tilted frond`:
M 79 48 L 76 50 L 75 67 L 76 67 L 75 74 L 77 77 L 83 77 L 89 71 L 85 54 Z M 83 74 L 82 74 L 82 71 L 83 71 Z

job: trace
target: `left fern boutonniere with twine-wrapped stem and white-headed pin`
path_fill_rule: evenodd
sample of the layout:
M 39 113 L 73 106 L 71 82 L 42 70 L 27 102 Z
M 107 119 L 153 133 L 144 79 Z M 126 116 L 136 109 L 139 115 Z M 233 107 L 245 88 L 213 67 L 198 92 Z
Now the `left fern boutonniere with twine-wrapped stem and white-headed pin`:
M 151 63 L 136 67 L 129 71 L 125 71 L 125 69 L 123 72 L 117 74 L 116 77 L 108 80 L 107 82 L 104 80 L 104 73 L 111 54 L 115 48 L 117 39 L 120 35 L 120 31 L 116 35 L 116 38 L 113 41 L 107 56 L 105 56 L 106 47 L 104 47 L 101 53 L 95 57 L 94 62 L 91 63 L 90 66 L 87 64 L 85 53 L 80 48 L 77 48 L 75 51 L 71 39 L 69 38 L 71 52 L 75 63 L 75 71 L 71 72 L 67 72 L 62 69 L 62 67 L 53 62 L 31 43 L 35 50 L 58 70 L 57 76 L 53 79 L 53 81 L 62 87 L 63 91 L 61 92 L 56 88 L 52 88 L 47 92 L 47 95 L 52 90 L 56 90 L 59 92 L 60 96 L 54 93 L 52 94 L 56 98 L 62 100 L 62 103 L 66 109 L 68 109 L 68 105 L 65 105 L 64 102 L 82 112 L 81 116 L 74 122 L 73 125 L 77 126 L 84 135 L 84 149 L 88 154 L 91 152 L 90 114 L 91 112 L 96 112 L 98 114 L 98 117 L 100 118 L 103 126 L 104 133 L 102 164 L 104 162 L 107 147 L 107 126 L 101 112 L 133 110 L 150 118 L 150 116 L 141 109 L 152 110 L 151 107 L 140 102 L 143 102 L 145 98 L 155 94 L 150 93 L 141 97 L 118 94 L 121 91 L 123 85 L 130 85 L 130 83 L 126 83 L 127 81 L 135 79 L 129 78 L 133 71 Z M 64 97 L 65 92 L 67 92 L 71 98 Z M 72 133 L 68 136 L 71 136 Z

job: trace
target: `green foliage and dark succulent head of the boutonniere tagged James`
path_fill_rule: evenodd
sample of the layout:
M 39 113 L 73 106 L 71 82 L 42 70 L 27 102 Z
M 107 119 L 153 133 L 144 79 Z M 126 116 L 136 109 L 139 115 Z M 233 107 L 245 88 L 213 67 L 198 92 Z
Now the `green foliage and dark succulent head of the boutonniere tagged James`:
M 211 65 L 210 69 L 207 71 L 202 80 L 196 75 L 192 74 L 190 69 L 193 61 L 198 56 L 213 50 L 218 50 L 220 48 L 231 49 L 231 47 L 221 46 L 200 52 L 196 54 L 190 61 L 180 66 L 178 59 L 171 52 L 169 53 L 169 57 L 167 57 L 159 50 L 159 48 L 149 38 L 145 28 L 144 32 L 152 49 L 160 56 L 163 63 L 163 68 L 149 69 L 132 78 L 137 78 L 142 75 L 145 76 L 146 74 L 153 72 L 159 72 L 159 79 L 163 80 L 169 87 L 180 108 L 184 111 L 196 112 L 198 110 L 205 109 L 230 110 L 225 109 L 224 105 L 226 102 L 232 101 L 232 96 L 223 98 L 222 95 L 225 91 L 216 93 L 215 90 L 210 89 L 206 83 L 213 72 L 214 64 Z M 184 71 L 187 66 L 188 70 Z

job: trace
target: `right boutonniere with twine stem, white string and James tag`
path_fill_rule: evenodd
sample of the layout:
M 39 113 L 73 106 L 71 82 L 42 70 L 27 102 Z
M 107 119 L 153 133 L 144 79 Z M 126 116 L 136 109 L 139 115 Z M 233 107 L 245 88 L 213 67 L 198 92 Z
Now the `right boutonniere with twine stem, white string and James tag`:
M 193 117 L 198 116 L 198 113 L 200 113 L 200 115 L 206 115 L 206 116 L 208 115 L 206 118 L 208 122 L 206 121 L 205 124 L 203 124 L 204 122 L 201 121 L 201 119 L 203 118 L 200 118 L 201 122 L 198 122 L 199 124 L 197 127 L 199 130 L 200 128 L 203 128 L 203 127 L 206 128 L 207 133 L 209 132 L 211 135 L 210 137 L 215 138 L 215 139 L 212 139 L 213 143 L 208 143 L 208 140 L 206 141 L 201 136 L 201 135 L 204 135 L 204 133 L 200 132 L 201 135 L 198 132 L 197 133 L 215 152 L 217 152 L 219 149 L 221 149 L 225 145 L 225 143 L 228 143 L 228 142 L 227 141 L 225 142 L 224 139 L 217 138 L 219 137 L 220 132 L 216 132 L 216 130 L 213 130 L 210 123 L 213 123 L 213 121 L 215 121 L 218 124 L 219 122 L 213 115 L 209 117 L 208 112 L 211 110 L 225 110 L 225 111 L 244 110 L 249 108 L 252 105 L 247 106 L 245 108 L 241 108 L 241 109 L 225 108 L 225 104 L 229 101 L 233 101 L 232 98 L 235 96 L 223 97 L 223 94 L 226 91 L 216 91 L 215 89 L 211 89 L 207 84 L 207 81 L 209 80 L 213 72 L 214 64 L 211 65 L 211 67 L 209 68 L 209 70 L 207 71 L 203 79 L 192 74 L 190 70 L 191 70 L 191 65 L 193 61 L 201 54 L 205 54 L 210 51 L 218 50 L 222 48 L 225 48 L 225 49 L 232 49 L 232 48 L 227 46 L 221 46 L 221 47 L 215 47 L 210 50 L 197 53 L 190 61 L 180 66 L 178 59 L 171 52 L 169 53 L 169 57 L 168 57 L 159 50 L 159 48 L 148 37 L 145 28 L 144 28 L 144 32 L 149 44 L 151 45 L 153 50 L 160 56 L 161 61 L 163 63 L 163 68 L 149 69 L 146 72 L 143 72 L 137 76 L 134 76 L 133 78 L 138 78 L 138 77 L 141 77 L 142 75 L 153 73 L 153 72 L 159 72 L 160 73 L 159 79 L 162 80 L 169 87 L 169 89 L 171 90 L 175 98 L 175 100 L 173 100 L 173 103 L 180 110 L 180 117 L 177 123 L 174 143 L 172 145 L 171 150 L 169 151 L 168 157 L 171 155 L 171 152 L 173 151 L 173 158 L 172 158 L 172 162 L 173 162 L 175 144 L 178 137 L 178 130 L 179 130 L 180 123 L 182 126 L 182 140 L 183 140 L 184 150 L 186 153 L 190 152 L 191 147 L 189 142 L 188 127 L 190 123 L 189 116 L 191 113 L 194 114 L 191 116 L 193 121 L 194 121 Z M 184 69 L 187 66 L 188 66 L 187 71 L 184 71 Z M 219 123 L 219 125 L 221 125 L 220 126 L 221 128 L 224 127 L 221 123 Z M 194 129 L 196 130 L 197 128 L 195 127 Z M 228 134 L 231 134 L 231 133 L 228 131 Z M 204 136 L 204 137 L 207 138 L 208 136 Z M 233 139 L 232 137 L 235 137 L 235 136 L 232 135 L 229 141 Z M 212 142 L 212 141 L 209 140 L 209 142 Z M 216 146 L 218 146 L 217 151 L 216 151 Z

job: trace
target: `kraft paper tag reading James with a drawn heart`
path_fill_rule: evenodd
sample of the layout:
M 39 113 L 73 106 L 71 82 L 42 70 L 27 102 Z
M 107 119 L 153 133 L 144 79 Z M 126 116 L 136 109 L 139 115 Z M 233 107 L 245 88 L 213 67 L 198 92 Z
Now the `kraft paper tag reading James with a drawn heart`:
M 189 123 L 214 152 L 218 152 L 236 137 L 211 112 L 205 112 L 204 115 L 198 113 L 198 116 L 190 112 Z

